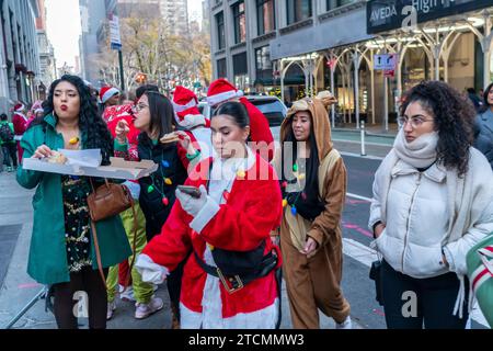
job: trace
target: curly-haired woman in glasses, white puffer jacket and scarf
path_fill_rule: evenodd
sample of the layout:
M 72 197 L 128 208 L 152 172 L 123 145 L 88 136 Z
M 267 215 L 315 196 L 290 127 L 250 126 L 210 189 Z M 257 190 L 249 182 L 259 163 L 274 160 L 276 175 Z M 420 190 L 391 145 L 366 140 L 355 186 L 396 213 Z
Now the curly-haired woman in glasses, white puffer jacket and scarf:
M 467 97 L 444 82 L 406 93 L 369 219 L 388 328 L 466 327 L 466 254 L 493 231 L 493 174 L 471 147 L 473 118 Z

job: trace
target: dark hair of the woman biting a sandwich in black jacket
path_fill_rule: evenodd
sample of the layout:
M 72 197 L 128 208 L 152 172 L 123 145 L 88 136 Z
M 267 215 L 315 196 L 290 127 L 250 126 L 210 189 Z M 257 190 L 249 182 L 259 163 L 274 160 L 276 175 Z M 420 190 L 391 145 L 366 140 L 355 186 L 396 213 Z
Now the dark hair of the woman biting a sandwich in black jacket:
M 158 138 L 162 138 L 164 134 L 172 133 L 176 126 L 176 121 L 174 120 L 174 109 L 170 99 L 151 90 L 146 91 L 144 95 L 146 95 L 149 101 L 149 131 L 151 131 L 151 133 L 157 131 Z M 150 139 L 146 133 L 141 133 L 139 138 L 147 141 Z

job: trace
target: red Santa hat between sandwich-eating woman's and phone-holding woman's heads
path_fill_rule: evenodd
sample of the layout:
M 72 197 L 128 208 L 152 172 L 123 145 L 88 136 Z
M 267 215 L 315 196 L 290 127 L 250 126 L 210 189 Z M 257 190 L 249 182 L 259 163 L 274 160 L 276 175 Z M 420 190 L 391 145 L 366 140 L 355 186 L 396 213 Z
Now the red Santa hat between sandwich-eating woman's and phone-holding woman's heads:
M 198 111 L 198 99 L 195 93 L 182 86 L 177 86 L 173 94 L 173 107 L 176 122 L 183 127 L 206 125 L 206 118 Z

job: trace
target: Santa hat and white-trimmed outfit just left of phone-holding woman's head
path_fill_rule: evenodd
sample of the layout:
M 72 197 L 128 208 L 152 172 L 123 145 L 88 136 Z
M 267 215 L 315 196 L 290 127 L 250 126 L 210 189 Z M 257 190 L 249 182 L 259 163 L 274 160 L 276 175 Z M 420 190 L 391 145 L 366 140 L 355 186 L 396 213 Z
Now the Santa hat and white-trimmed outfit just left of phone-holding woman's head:
M 173 107 L 176 123 L 185 129 L 194 148 L 200 151 L 202 159 L 214 156 L 210 122 L 198 111 L 195 93 L 177 86 L 173 94 Z

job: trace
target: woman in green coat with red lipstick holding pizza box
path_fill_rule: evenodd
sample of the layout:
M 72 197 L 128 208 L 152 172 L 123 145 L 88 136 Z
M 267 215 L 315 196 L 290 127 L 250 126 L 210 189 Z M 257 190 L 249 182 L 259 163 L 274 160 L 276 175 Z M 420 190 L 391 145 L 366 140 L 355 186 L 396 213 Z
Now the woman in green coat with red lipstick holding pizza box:
M 53 82 L 44 110 L 45 117 L 34 121 L 22 138 L 25 158 L 50 157 L 58 149 L 98 148 L 103 165 L 110 162 L 113 139 L 79 77 L 67 75 Z M 38 283 L 53 286 L 58 328 L 77 328 L 73 306 L 81 296 L 88 297 L 89 327 L 105 328 L 106 287 L 92 242 L 89 179 L 20 167 L 18 182 L 26 189 L 36 188 L 27 272 Z M 131 250 L 119 216 L 98 222 L 96 230 L 107 273 L 108 267 L 127 259 Z

